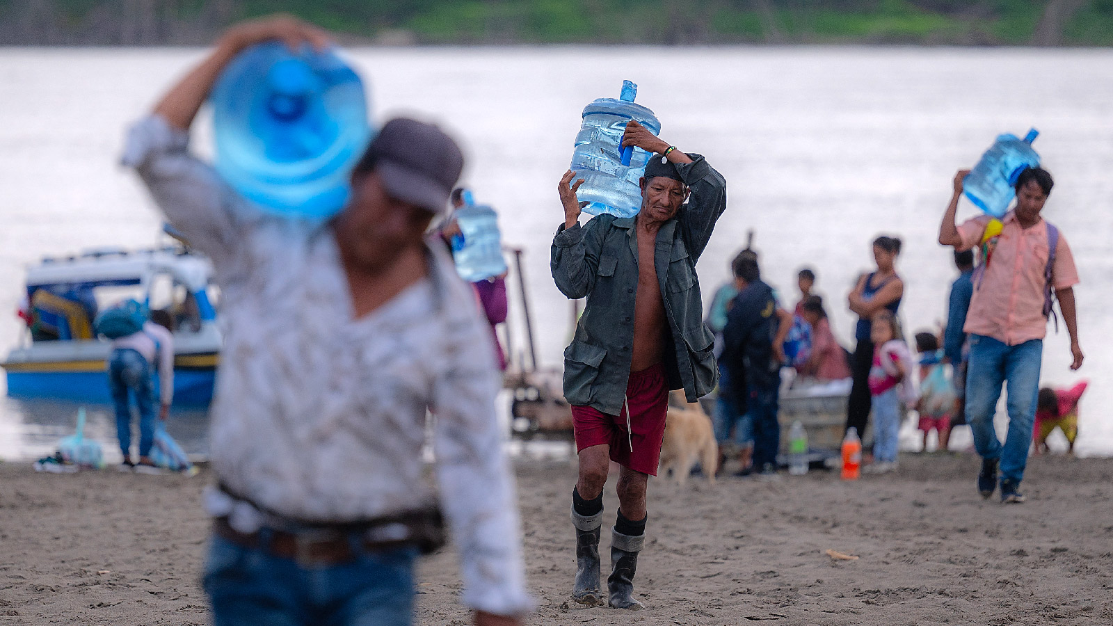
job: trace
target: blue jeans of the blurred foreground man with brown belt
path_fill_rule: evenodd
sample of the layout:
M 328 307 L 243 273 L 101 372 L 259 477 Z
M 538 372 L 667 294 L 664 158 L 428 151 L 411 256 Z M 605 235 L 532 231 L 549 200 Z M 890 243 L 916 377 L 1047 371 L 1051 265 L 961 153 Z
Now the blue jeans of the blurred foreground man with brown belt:
M 303 567 L 214 536 L 203 579 L 213 624 L 408 626 L 417 549 L 356 554 L 351 563 Z

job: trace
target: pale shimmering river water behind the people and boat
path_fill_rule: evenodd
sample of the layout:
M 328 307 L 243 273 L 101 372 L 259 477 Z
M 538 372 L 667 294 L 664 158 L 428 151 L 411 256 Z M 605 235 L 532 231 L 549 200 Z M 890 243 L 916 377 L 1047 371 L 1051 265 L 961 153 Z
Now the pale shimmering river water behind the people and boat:
M 43 255 L 140 247 L 160 219 L 116 163 L 124 129 L 197 61 L 196 49 L 0 49 L 0 353 L 21 341 L 13 314 L 24 267 Z M 524 250 L 539 358 L 559 365 L 569 304 L 549 276 L 562 219 L 556 182 L 568 167 L 580 109 L 639 84 L 661 135 L 707 156 L 728 180 L 728 212 L 699 263 L 705 300 L 756 232 L 765 277 L 796 300 L 795 274 L 816 270 L 836 334 L 849 345 L 845 295 L 868 270 L 879 233 L 904 239 L 902 316 L 909 330 L 946 316 L 955 272 L 935 243 L 951 179 L 998 133 L 1042 131 L 1036 148 L 1055 175 L 1044 215 L 1070 242 L 1086 363 L 1067 369 L 1065 331 L 1050 333 L 1047 384 L 1091 380 L 1076 451 L 1113 453 L 1107 383 L 1113 333 L 1113 50 L 951 48 L 398 48 L 356 49 L 381 123 L 435 120 L 464 146 L 464 180 L 501 212 L 504 239 Z M 210 154 L 207 120 L 196 147 Z M 971 205 L 962 216 L 974 215 Z M 512 315 L 516 312 L 516 299 Z M 518 316 L 520 321 L 521 316 Z M 516 345 L 521 346 L 515 324 Z M 0 383 L 2 384 L 2 383 Z M 0 457 L 49 451 L 72 407 L 0 401 Z M 107 408 L 90 428 L 112 440 Z M 170 427 L 201 451 L 204 417 Z M 1062 443 L 1062 441 L 1060 441 Z M 112 449 L 112 446 L 108 446 Z

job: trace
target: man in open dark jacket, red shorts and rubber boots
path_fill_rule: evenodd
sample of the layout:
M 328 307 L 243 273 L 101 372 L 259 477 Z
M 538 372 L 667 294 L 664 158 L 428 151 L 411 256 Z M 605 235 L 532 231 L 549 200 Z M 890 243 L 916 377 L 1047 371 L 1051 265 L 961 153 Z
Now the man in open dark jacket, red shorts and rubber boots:
M 640 180 L 641 209 L 633 217 L 600 215 L 581 226 L 575 193 L 583 179 L 573 183 L 575 173 L 569 170 L 559 187 L 564 223 L 553 237 L 551 268 L 564 295 L 588 299 L 564 351 L 564 397 L 572 404 L 580 457 L 572 490 L 578 566 L 572 598 L 603 604 L 599 540 L 613 460 L 621 470 L 608 600 L 615 608 L 641 608 L 633 577 L 669 390 L 682 388 L 693 402 L 718 380 L 696 261 L 727 207 L 727 182 L 702 156 L 676 149 L 637 121 L 627 125 L 622 145 L 651 153 Z

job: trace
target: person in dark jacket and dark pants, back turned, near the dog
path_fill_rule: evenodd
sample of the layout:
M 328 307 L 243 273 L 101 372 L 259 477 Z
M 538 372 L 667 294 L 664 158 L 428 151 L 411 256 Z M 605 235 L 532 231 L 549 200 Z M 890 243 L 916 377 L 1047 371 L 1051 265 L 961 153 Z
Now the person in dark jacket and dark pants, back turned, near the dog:
M 780 447 L 777 407 L 784 362 L 779 346 L 792 325 L 792 314 L 777 304 L 772 287 L 761 281 L 755 255 L 738 255 L 731 271 L 738 295 L 722 329 L 720 359 L 730 375 L 720 393 L 735 405 L 746 408 L 746 419 L 754 430 L 754 467 L 764 476 L 775 476 Z

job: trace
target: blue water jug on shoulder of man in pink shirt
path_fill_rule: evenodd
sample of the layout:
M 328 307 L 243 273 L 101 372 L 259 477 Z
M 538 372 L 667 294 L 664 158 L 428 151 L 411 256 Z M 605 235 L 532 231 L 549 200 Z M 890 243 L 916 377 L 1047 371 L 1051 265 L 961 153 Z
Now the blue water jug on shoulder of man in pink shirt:
M 1040 135 L 1035 128 L 1023 139 L 1016 135 L 998 135 L 997 140 L 982 155 L 974 169 L 963 179 L 963 193 L 978 208 L 1001 218 L 1016 196 L 1016 178 L 1027 167 L 1040 166 L 1040 155 L 1032 149 L 1032 141 Z

